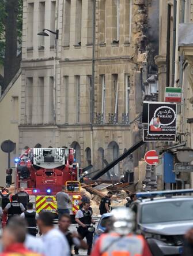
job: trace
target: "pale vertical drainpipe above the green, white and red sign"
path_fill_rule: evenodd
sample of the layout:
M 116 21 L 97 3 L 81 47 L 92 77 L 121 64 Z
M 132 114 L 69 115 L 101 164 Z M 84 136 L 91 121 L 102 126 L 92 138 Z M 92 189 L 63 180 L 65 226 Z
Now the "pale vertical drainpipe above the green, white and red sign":
M 175 80 L 174 86 L 177 87 L 177 79 L 179 77 L 179 52 L 178 52 L 178 37 L 179 37 L 179 23 L 180 23 L 180 0 L 177 0 L 176 6 L 176 54 L 175 54 Z

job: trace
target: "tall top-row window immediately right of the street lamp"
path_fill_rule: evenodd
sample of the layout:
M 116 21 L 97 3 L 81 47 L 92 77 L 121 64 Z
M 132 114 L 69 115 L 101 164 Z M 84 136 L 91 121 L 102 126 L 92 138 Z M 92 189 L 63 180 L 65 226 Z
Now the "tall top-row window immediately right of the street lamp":
M 70 11 L 71 11 L 71 0 L 65 1 L 65 35 L 64 35 L 64 46 L 70 45 Z

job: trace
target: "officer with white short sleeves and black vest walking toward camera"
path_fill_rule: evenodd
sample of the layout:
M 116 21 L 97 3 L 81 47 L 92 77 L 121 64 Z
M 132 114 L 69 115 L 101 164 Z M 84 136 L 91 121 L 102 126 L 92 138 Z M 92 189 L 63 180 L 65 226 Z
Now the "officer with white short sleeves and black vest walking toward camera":
M 75 214 L 75 221 L 78 223 L 78 234 L 82 239 L 86 238 L 88 244 L 87 255 L 90 255 L 90 251 L 93 243 L 93 232 L 89 231 L 91 224 L 94 224 L 92 220 L 92 213 L 89 210 L 89 203 L 83 203 L 82 209 L 78 210 Z M 75 254 L 78 254 L 78 248 L 74 247 Z

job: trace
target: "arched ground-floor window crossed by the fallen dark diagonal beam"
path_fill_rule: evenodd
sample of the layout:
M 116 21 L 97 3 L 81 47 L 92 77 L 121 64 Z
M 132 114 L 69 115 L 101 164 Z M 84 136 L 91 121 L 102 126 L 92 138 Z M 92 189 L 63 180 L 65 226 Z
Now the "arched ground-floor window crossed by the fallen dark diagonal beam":
M 119 145 L 116 142 L 111 142 L 108 144 L 108 161 L 109 163 L 119 157 Z M 111 170 L 112 179 L 119 177 L 119 164 L 115 165 Z M 114 176 L 114 177 L 113 177 Z

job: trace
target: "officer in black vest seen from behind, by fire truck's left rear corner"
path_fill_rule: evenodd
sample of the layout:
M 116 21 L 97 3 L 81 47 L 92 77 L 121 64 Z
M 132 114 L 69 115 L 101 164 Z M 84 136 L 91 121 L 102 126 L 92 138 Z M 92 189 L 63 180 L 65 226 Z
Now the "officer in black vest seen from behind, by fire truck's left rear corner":
M 9 222 L 10 218 L 20 215 L 22 212 L 25 212 L 25 207 L 22 205 L 22 203 L 17 201 L 17 196 L 13 195 L 12 202 L 7 203 L 5 209 L 3 210 L 3 213 L 8 214 L 7 223 Z

